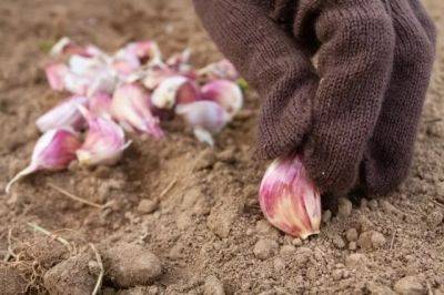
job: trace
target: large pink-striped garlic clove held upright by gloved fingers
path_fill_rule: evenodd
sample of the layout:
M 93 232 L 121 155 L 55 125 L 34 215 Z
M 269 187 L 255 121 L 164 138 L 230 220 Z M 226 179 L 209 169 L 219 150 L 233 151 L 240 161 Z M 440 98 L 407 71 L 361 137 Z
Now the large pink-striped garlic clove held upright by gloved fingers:
M 259 202 L 266 220 L 301 238 L 320 232 L 321 195 L 300 156 L 275 160 L 262 179 Z

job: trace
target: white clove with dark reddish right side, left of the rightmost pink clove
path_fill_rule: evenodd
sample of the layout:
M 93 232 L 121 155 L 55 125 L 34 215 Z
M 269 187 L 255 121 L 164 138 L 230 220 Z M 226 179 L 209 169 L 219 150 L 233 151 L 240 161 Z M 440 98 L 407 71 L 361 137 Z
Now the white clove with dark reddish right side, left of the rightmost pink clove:
M 191 80 L 174 75 L 162 81 L 151 95 L 151 102 L 159 109 L 172 109 L 176 103 L 199 100 L 199 89 Z

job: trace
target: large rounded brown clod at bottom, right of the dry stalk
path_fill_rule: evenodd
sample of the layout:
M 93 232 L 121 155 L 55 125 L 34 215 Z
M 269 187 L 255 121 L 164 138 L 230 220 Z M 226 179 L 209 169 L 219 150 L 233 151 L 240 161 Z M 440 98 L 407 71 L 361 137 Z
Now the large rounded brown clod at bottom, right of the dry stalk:
M 119 243 L 103 251 L 105 276 L 120 287 L 152 283 L 162 274 L 160 260 L 149 250 Z

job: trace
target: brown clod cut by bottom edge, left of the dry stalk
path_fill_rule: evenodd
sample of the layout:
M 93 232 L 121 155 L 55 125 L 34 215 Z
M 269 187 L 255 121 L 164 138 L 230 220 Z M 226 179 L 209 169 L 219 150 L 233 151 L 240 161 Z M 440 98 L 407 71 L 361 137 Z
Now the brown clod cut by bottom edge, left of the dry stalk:
M 89 271 L 90 253 L 81 253 L 49 269 L 43 277 L 44 287 L 51 295 L 91 294 L 97 277 Z

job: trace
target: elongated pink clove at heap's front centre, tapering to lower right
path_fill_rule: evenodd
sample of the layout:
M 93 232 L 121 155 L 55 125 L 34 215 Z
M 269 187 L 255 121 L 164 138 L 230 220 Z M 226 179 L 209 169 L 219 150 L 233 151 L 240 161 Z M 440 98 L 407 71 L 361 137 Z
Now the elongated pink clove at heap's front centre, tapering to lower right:
M 113 94 L 111 111 L 125 130 L 145 132 L 160 139 L 164 134 L 159 119 L 151 113 L 149 101 L 149 93 L 140 85 L 121 84 Z

